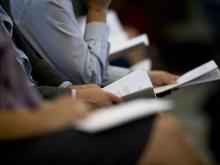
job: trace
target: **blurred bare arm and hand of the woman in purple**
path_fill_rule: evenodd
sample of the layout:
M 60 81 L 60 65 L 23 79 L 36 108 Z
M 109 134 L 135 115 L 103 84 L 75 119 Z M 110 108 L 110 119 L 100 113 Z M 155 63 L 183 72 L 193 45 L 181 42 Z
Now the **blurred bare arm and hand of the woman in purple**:
M 0 111 L 0 140 L 14 140 L 71 127 L 87 114 L 84 104 L 62 98 L 36 110 Z

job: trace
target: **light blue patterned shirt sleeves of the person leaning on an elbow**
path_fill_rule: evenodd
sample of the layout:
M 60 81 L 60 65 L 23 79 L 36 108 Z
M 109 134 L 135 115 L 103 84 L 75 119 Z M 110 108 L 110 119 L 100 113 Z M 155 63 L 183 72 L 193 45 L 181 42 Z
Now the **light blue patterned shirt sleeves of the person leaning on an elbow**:
M 108 64 L 108 25 L 89 23 L 83 35 L 71 0 L 11 0 L 11 12 L 39 54 L 71 82 L 106 85 L 129 72 L 111 69 Z

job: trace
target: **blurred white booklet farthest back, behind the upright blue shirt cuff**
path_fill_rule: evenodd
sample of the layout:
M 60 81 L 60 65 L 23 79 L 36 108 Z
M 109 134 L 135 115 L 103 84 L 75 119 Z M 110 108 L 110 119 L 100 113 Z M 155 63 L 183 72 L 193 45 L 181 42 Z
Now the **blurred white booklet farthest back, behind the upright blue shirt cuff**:
M 82 33 L 86 26 L 86 17 L 77 18 L 78 23 Z M 115 58 L 126 54 L 128 51 L 138 48 L 140 46 L 149 45 L 149 40 L 147 34 L 141 34 L 134 38 L 128 38 L 117 13 L 114 10 L 109 10 L 107 13 L 107 24 L 110 26 L 110 52 L 109 60 L 114 60 Z

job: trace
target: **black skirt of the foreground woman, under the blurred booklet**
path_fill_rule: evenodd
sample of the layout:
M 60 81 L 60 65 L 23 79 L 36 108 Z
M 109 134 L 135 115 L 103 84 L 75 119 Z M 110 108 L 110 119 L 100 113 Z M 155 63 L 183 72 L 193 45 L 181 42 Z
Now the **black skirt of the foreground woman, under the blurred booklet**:
M 1 164 L 134 165 L 149 141 L 155 116 L 97 134 L 72 129 L 0 142 Z

